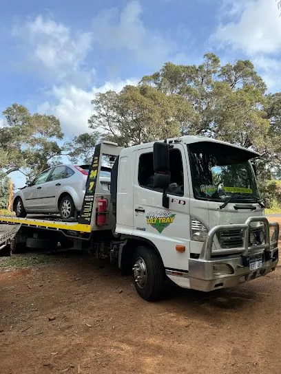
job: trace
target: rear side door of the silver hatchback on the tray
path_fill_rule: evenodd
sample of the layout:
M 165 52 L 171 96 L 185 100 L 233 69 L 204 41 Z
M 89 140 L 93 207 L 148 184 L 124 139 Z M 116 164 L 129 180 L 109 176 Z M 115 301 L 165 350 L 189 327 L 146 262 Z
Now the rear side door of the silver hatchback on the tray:
M 67 169 L 69 168 L 64 165 L 56 166 L 51 170 L 48 181 L 45 183 L 45 190 L 43 192 L 44 206 L 50 210 L 50 212 L 55 212 L 58 210 L 56 201 L 59 197 L 61 189 L 65 184 L 65 179 L 68 175 Z

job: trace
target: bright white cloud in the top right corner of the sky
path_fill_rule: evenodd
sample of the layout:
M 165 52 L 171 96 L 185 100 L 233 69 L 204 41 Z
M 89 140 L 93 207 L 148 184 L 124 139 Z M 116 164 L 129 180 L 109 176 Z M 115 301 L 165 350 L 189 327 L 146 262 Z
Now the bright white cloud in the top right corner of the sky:
M 237 21 L 220 23 L 211 41 L 243 50 L 245 54 L 278 53 L 281 48 L 281 21 L 275 0 L 227 0 L 228 16 Z

